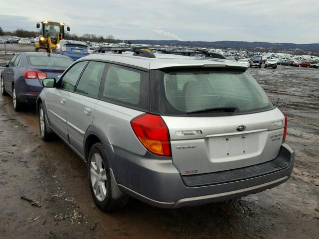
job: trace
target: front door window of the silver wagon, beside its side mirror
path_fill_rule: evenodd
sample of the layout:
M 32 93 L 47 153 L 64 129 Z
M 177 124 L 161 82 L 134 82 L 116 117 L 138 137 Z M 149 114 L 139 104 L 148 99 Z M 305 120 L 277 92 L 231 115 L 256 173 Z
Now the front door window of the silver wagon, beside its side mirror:
M 73 91 L 86 63 L 87 61 L 81 61 L 73 65 L 60 80 L 59 88 L 66 91 Z

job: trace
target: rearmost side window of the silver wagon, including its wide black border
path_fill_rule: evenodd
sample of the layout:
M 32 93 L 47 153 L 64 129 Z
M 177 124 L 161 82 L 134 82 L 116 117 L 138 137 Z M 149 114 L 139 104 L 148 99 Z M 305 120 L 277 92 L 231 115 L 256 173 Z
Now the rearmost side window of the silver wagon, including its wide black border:
M 148 73 L 110 64 L 103 87 L 103 98 L 122 105 L 148 109 Z

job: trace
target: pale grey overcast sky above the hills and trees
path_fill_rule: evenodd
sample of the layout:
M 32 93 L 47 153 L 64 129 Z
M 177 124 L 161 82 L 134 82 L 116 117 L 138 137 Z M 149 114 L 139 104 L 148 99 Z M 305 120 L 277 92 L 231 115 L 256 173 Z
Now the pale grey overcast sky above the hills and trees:
M 1 0 L 3 30 L 42 20 L 118 39 L 319 43 L 319 0 Z

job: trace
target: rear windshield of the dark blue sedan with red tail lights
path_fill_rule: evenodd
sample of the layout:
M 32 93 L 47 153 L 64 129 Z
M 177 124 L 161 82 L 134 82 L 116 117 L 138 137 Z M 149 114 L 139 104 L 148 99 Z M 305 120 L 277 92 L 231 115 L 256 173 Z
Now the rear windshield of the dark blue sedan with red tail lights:
M 31 66 L 55 66 L 55 67 L 69 67 L 73 60 L 64 57 L 54 56 L 28 56 L 28 63 Z

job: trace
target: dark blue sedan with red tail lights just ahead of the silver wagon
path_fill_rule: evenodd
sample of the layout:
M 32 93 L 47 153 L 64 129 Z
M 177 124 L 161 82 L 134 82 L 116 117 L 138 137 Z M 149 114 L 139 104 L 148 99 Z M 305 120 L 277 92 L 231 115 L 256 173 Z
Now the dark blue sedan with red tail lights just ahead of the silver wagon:
M 10 95 L 14 111 L 21 111 L 24 104 L 35 104 L 44 78 L 57 79 L 72 63 L 70 57 L 50 53 L 15 54 L 9 63 L 0 63 L 5 67 L 0 75 L 1 94 Z

